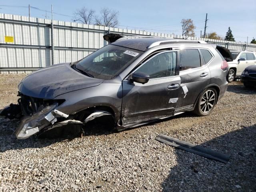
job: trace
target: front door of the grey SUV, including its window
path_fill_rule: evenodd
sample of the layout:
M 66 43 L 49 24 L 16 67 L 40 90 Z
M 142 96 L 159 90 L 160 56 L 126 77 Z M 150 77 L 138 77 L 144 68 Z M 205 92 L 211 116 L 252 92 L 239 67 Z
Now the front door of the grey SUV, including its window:
M 174 115 L 179 96 L 178 51 L 160 52 L 123 80 L 123 125 Z M 134 72 L 150 76 L 145 84 L 130 80 Z

